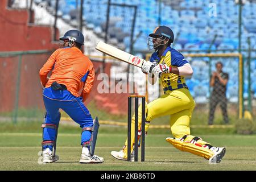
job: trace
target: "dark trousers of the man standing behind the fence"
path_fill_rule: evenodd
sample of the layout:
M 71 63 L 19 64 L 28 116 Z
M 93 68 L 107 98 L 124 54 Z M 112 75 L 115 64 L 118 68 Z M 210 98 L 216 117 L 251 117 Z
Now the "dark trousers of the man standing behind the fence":
M 209 121 L 208 124 L 212 125 L 213 124 L 213 119 L 214 119 L 214 112 L 216 109 L 216 106 L 218 105 L 218 103 L 220 103 L 220 107 L 221 107 L 221 111 L 222 111 L 222 117 L 224 119 L 225 123 L 229 123 L 229 119 L 228 119 L 228 112 L 226 110 L 227 107 L 227 98 L 225 96 L 225 94 L 212 94 L 212 96 L 210 97 L 210 112 L 209 112 Z

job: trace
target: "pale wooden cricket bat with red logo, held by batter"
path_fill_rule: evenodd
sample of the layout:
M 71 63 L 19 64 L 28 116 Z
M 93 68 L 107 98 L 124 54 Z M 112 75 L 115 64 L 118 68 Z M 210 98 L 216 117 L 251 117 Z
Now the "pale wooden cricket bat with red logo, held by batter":
M 96 49 L 98 51 L 105 53 L 106 55 L 114 57 L 115 59 L 135 65 L 136 67 L 139 67 L 139 68 L 142 67 L 143 62 L 145 61 L 144 59 L 131 55 L 130 53 L 127 53 L 118 48 L 110 46 L 109 44 L 106 44 L 102 41 L 97 43 Z

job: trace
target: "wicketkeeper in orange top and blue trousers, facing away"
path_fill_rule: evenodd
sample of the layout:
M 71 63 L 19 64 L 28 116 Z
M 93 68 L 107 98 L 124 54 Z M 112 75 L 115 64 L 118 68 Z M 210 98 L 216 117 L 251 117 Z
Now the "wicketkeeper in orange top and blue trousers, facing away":
M 64 41 L 63 48 L 53 52 L 40 69 L 46 107 L 42 125 L 43 162 L 51 163 L 59 159 L 55 151 L 60 121 L 59 109 L 62 109 L 82 128 L 80 163 L 102 163 L 104 159 L 94 155 L 99 127 L 97 117 L 93 122 L 89 110 L 83 104 L 89 96 L 94 80 L 93 64 L 81 51 L 84 35 L 80 31 L 69 30 L 60 40 Z M 52 74 L 48 79 L 50 71 Z

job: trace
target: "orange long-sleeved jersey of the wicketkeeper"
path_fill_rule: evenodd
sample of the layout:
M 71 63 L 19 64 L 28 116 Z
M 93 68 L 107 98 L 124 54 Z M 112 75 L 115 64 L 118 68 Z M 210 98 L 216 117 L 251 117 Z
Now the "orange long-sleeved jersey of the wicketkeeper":
M 52 75 L 47 81 L 47 75 L 51 70 Z M 40 69 L 39 75 L 42 85 L 46 88 L 56 81 L 67 86 L 69 92 L 76 97 L 82 97 L 82 101 L 85 101 L 93 86 L 94 68 L 92 61 L 80 49 L 66 47 L 52 53 Z

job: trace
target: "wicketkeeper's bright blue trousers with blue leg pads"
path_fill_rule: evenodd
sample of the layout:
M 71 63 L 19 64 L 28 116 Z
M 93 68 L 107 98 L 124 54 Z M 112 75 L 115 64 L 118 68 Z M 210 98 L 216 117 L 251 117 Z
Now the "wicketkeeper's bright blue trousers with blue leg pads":
M 44 105 L 47 115 L 45 124 L 47 126 L 58 126 L 60 122 L 60 112 L 62 109 L 73 119 L 79 123 L 82 129 L 93 126 L 93 119 L 89 110 L 81 101 L 81 97 L 73 96 L 68 90 L 53 90 L 51 87 L 44 89 L 43 92 Z M 92 131 L 83 130 L 81 136 L 81 145 L 90 146 L 90 138 Z M 56 129 L 54 127 L 44 127 L 43 129 L 43 148 L 50 148 L 55 142 Z

